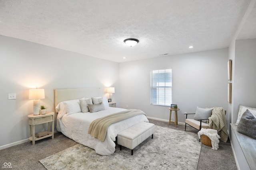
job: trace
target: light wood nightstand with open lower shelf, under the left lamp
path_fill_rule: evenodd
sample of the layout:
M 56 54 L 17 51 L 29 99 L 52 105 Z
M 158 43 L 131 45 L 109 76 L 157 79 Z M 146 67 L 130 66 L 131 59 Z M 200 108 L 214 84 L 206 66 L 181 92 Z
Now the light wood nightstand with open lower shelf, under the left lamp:
M 50 132 L 50 122 L 52 122 L 52 131 Z M 42 123 L 48 123 L 48 132 L 46 136 L 35 137 L 35 125 Z M 35 141 L 44 139 L 46 137 L 52 137 L 54 139 L 54 112 L 46 112 L 45 115 L 28 115 L 29 125 L 29 140 L 32 141 L 32 145 L 35 145 Z M 31 135 L 32 134 L 32 135 Z

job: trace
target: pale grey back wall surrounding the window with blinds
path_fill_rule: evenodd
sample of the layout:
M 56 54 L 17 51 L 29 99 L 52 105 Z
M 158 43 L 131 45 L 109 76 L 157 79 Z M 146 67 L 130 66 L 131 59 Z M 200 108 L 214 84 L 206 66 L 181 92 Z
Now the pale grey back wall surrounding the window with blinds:
M 168 107 L 150 105 L 150 70 L 172 67 L 172 98 L 180 108 L 179 122 L 185 122 L 184 112 L 194 113 L 197 106 L 227 109 L 227 61 L 225 48 L 120 63 L 120 106 L 168 120 Z

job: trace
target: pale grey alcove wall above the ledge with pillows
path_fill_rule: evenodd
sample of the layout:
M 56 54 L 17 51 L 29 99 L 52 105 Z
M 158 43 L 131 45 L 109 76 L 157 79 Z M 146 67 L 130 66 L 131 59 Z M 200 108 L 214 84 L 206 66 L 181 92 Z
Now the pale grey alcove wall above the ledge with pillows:
M 234 68 L 232 123 L 236 123 L 239 104 L 256 108 L 256 39 L 236 40 Z

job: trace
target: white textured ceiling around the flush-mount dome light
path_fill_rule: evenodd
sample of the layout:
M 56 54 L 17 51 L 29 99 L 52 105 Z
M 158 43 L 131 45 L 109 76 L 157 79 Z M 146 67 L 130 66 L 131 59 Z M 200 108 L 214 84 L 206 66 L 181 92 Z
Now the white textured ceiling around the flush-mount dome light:
M 228 47 L 249 3 L 0 0 L 0 35 L 122 63 Z M 255 37 L 255 23 L 254 8 L 238 37 Z M 123 42 L 127 38 L 140 42 L 128 47 Z M 194 48 L 189 49 L 190 45 Z

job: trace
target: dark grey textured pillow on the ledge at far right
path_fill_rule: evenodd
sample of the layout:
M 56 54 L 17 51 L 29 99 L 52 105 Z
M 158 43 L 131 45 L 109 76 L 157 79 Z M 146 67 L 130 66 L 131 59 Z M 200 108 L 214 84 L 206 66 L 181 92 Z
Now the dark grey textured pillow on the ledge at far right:
M 242 133 L 244 135 L 247 135 L 249 137 L 252 137 L 253 139 L 256 139 L 256 118 L 254 115 L 250 112 L 250 110 L 246 110 L 238 123 L 236 131 L 239 133 Z

